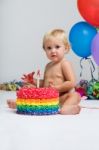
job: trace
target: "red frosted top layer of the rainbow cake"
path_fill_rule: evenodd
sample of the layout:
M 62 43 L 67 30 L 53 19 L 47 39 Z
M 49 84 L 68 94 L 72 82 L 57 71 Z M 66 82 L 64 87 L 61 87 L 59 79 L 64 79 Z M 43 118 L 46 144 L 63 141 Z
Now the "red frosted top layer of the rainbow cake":
M 59 92 L 54 88 L 28 88 L 24 87 L 17 91 L 17 98 L 33 99 L 33 98 L 56 98 Z

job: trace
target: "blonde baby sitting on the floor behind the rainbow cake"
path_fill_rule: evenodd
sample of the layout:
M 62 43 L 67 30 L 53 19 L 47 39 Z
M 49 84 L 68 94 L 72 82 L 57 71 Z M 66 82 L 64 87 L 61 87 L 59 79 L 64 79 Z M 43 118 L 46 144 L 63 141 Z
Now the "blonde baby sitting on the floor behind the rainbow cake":
M 55 29 L 45 34 L 43 49 L 50 62 L 46 65 L 44 79 L 40 80 L 41 87 L 53 87 L 59 91 L 60 114 L 74 115 L 80 112 L 80 95 L 75 92 L 75 75 L 71 63 L 65 58 L 70 45 L 65 31 Z M 24 78 L 25 82 L 27 78 Z M 34 80 L 34 86 L 37 81 Z M 15 108 L 16 103 L 8 100 L 10 108 Z

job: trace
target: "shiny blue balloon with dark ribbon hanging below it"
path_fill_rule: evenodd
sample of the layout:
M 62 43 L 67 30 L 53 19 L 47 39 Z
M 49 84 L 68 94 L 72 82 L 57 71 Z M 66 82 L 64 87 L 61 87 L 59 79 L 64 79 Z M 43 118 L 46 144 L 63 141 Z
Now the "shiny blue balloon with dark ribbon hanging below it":
M 91 42 L 97 30 L 87 22 L 78 22 L 70 30 L 69 41 L 72 50 L 80 57 L 87 58 L 91 55 Z

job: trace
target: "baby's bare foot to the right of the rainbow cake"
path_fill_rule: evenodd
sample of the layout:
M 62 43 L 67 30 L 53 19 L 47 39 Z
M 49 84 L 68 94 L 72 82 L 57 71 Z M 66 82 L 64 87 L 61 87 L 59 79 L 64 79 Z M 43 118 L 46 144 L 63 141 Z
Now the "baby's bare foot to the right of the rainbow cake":
M 62 115 L 76 115 L 79 114 L 81 107 L 79 105 L 66 105 L 60 110 Z

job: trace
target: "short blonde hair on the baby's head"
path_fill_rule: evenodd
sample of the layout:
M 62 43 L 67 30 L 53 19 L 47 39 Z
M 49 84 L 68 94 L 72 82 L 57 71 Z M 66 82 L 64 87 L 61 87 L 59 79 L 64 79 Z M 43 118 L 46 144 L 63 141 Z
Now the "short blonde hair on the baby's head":
M 65 48 L 67 51 L 70 50 L 70 44 L 66 38 L 66 35 L 65 35 L 65 31 L 62 30 L 62 29 L 54 29 L 48 33 L 46 33 L 44 35 L 44 38 L 43 38 L 43 49 L 45 49 L 45 43 L 48 39 L 51 39 L 51 38 L 58 38 L 60 39 L 63 44 L 65 45 Z

